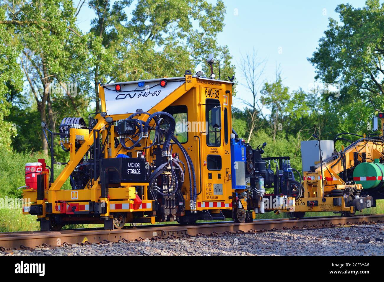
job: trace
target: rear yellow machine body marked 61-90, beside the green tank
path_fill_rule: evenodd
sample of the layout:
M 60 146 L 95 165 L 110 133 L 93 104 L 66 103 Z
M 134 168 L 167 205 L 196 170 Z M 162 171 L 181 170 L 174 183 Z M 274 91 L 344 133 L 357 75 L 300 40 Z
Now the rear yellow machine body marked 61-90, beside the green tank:
M 351 176 L 354 168 L 362 162 L 373 163 L 375 159 L 382 161 L 384 159 L 383 150 L 384 143 L 382 140 L 372 140 L 364 134 L 361 139 L 351 143 L 346 148 L 342 146 L 341 151 L 334 153 L 332 157 L 324 159 L 322 165 L 320 165 L 320 162 L 314 163 L 314 172 L 303 172 L 304 192 L 303 196 L 296 200 L 295 211 L 299 213 L 334 211 L 353 215 L 358 211 L 356 206 L 352 205 L 352 201 L 356 196 L 351 195 L 351 193 L 341 195 L 342 191 L 347 190 L 356 191 L 359 197 L 366 196 L 359 200 L 361 203 L 363 199 L 366 201 L 364 208 L 375 206 L 373 198 L 367 195 L 368 192 L 371 194 L 373 191 L 364 190 L 362 184 L 357 183 L 359 181 L 356 181 L 356 178 L 350 177 L 349 180 L 353 184 L 347 184 L 341 178 L 340 173 L 346 171 Z M 356 198 L 356 200 L 358 199 Z

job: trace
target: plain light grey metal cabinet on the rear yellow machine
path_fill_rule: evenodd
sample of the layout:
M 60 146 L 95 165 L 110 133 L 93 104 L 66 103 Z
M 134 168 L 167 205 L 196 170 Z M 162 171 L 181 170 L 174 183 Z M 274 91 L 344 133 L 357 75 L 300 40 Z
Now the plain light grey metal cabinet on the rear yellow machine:
M 315 162 L 320 161 L 319 147 L 317 140 L 301 141 L 301 163 L 303 172 L 310 170 L 310 167 L 315 166 Z M 323 152 L 323 162 L 326 158 L 331 157 L 333 153 L 332 140 L 320 140 L 321 151 Z

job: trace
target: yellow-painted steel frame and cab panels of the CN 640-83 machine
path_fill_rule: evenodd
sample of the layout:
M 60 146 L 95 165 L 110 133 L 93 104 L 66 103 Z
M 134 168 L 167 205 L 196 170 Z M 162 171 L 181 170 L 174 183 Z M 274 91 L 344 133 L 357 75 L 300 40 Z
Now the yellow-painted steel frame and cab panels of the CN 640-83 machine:
M 165 97 L 162 101 L 157 103 L 152 109 L 150 109 L 148 112 L 149 113 L 154 113 L 157 111 L 161 111 L 165 109 L 166 107 L 174 104 L 178 104 L 180 102 L 184 103 L 188 107 L 188 114 L 189 114 L 189 119 L 195 120 L 195 121 L 200 121 L 200 122 L 205 122 L 205 106 L 204 101 L 204 93 L 202 92 L 202 86 L 204 87 L 210 87 L 209 84 L 207 84 L 207 81 L 203 81 L 198 78 L 192 78 L 192 76 L 187 75 L 185 77 L 186 83 L 182 84 L 180 87 L 175 89 L 175 91 L 172 92 L 172 95 L 168 95 Z M 215 83 L 219 85 L 215 85 L 214 88 L 220 89 L 221 93 L 223 94 L 219 100 L 220 100 L 220 105 L 222 107 L 222 110 L 227 108 L 228 113 L 231 112 L 231 105 L 232 105 L 232 84 L 231 83 L 226 83 L 226 82 L 220 82 L 220 83 Z M 212 86 L 213 87 L 213 86 Z M 226 93 L 228 92 L 229 93 Z M 184 96 L 184 97 L 183 97 Z M 224 97 L 225 96 L 225 97 Z M 106 103 L 105 103 L 105 94 L 104 94 L 104 88 L 99 85 L 99 97 L 101 100 L 101 109 L 103 112 L 106 111 Z M 118 114 L 118 115 L 111 115 L 113 117 L 113 120 L 120 120 L 120 119 L 125 119 L 129 116 L 130 114 Z M 144 119 L 145 117 L 137 117 L 137 118 L 142 118 Z M 104 118 L 101 117 L 100 114 L 95 116 L 95 119 L 98 120 L 97 124 L 94 126 L 93 130 L 88 133 L 88 130 L 84 129 L 74 129 L 70 128 L 70 140 L 69 143 L 64 143 L 66 148 L 70 148 L 70 160 L 66 164 L 65 168 L 61 171 L 61 173 L 57 176 L 55 179 L 54 183 L 51 184 L 48 189 L 45 190 L 46 193 L 46 199 L 45 200 L 36 200 L 36 191 L 33 190 L 24 190 L 24 197 L 31 199 L 32 203 L 37 203 L 37 204 L 43 204 L 46 201 L 49 203 L 57 203 L 58 201 L 66 201 L 66 202 L 72 202 L 72 203 L 77 203 L 78 201 L 95 201 L 95 202 L 105 202 L 107 206 L 107 212 L 105 214 L 101 214 L 101 216 L 110 216 L 111 210 L 109 208 L 110 203 L 129 203 L 133 204 L 133 201 L 130 200 L 132 199 L 131 196 L 128 196 L 127 194 L 129 193 L 129 188 L 134 188 L 136 186 L 144 186 L 144 195 L 142 200 L 143 203 L 149 203 L 152 201 L 147 200 L 147 185 L 148 183 L 121 183 L 120 188 L 110 188 L 109 189 L 109 197 L 108 198 L 101 198 L 101 187 L 98 184 L 99 179 L 96 181 L 93 181 L 93 183 L 89 183 L 91 188 L 85 188 L 83 190 L 61 190 L 63 184 L 65 181 L 69 178 L 70 174 L 73 172 L 74 168 L 78 165 L 78 163 L 81 161 L 83 156 L 86 154 L 88 151 L 89 147 L 93 144 L 93 138 L 95 131 L 94 130 L 100 130 L 101 134 L 104 136 L 106 134 L 105 127 L 107 123 L 105 122 Z M 224 117 L 222 114 L 222 123 L 224 123 Z M 231 130 L 231 115 L 228 114 L 228 132 Z M 223 130 L 222 130 L 223 131 Z M 200 171 L 200 163 L 199 163 L 199 154 L 197 152 L 205 152 L 205 139 L 204 134 L 205 132 L 188 132 L 189 139 L 188 143 L 184 144 L 185 147 L 187 147 L 187 150 L 189 150 L 189 155 L 192 158 L 192 162 L 195 164 L 195 171 L 199 172 Z M 194 136 L 191 136 L 191 135 Z M 223 132 L 222 132 L 223 134 Z M 74 149 L 74 143 L 76 141 L 76 135 L 83 135 L 84 140 L 79 141 L 81 143 L 81 146 L 77 149 L 77 151 Z M 119 145 L 117 148 L 114 148 L 113 140 L 115 137 L 115 130 L 111 130 L 111 138 L 108 146 L 106 146 L 104 154 L 105 157 L 116 157 L 118 153 L 125 153 L 126 150 L 124 150 L 121 145 Z M 200 147 L 199 147 L 199 138 L 200 138 Z M 222 138 L 224 140 L 224 138 Z M 232 189 L 231 189 L 231 179 L 230 179 L 230 155 L 225 154 L 225 152 L 230 152 L 230 144 L 229 142 L 225 144 L 222 141 L 222 146 L 220 146 L 220 154 L 223 156 L 223 163 L 227 164 L 227 167 L 229 170 L 225 171 L 223 168 L 222 175 L 225 176 L 223 177 L 223 185 L 224 185 L 224 190 L 225 190 L 225 195 L 223 195 L 221 198 L 222 199 L 217 199 L 216 201 L 221 201 L 226 204 L 232 203 L 232 200 L 229 199 L 228 196 L 232 195 Z M 108 149 L 110 148 L 110 151 Z M 197 149 L 192 149 L 192 148 L 197 148 Z M 147 156 L 147 160 L 149 162 L 152 161 L 150 154 L 149 154 L 149 149 L 146 149 L 145 152 Z M 180 153 L 180 156 L 182 154 Z M 201 159 L 202 156 L 200 156 Z M 203 172 L 204 168 L 202 168 Z M 221 171 L 220 171 L 221 172 Z M 218 173 L 218 172 L 216 172 Z M 189 177 L 186 173 L 185 177 Z M 205 174 L 204 174 L 205 175 Z M 199 173 L 196 173 L 196 182 L 197 182 L 197 191 L 201 191 L 202 187 L 208 186 L 210 182 L 212 181 L 218 181 L 220 182 L 221 180 L 217 179 L 217 175 L 214 180 L 208 180 L 207 178 L 203 177 L 202 175 L 199 175 Z M 200 180 L 201 177 L 201 180 Z M 202 183 L 202 187 L 200 187 L 200 181 Z M 187 187 L 189 189 L 189 187 Z M 205 189 L 203 189 L 205 190 Z M 72 191 L 76 191 L 76 198 L 72 198 L 71 194 Z M 206 196 L 206 195 L 204 195 Z M 127 200 L 119 200 L 117 199 L 127 199 Z M 185 193 L 185 200 L 188 202 L 189 199 L 189 193 Z M 202 194 L 198 195 L 197 201 L 209 201 L 210 199 L 207 199 L 206 197 L 203 197 Z M 30 203 L 28 203 L 30 204 Z M 26 204 L 26 206 L 28 205 Z M 152 207 L 154 206 L 153 203 L 151 203 Z M 186 204 L 186 208 L 190 209 L 190 205 Z M 46 212 L 45 212 L 45 204 L 43 204 L 43 215 L 38 216 L 38 218 L 46 218 Z M 203 209 L 214 209 L 214 208 L 197 208 L 197 210 L 203 210 Z M 230 207 L 227 208 L 220 208 L 220 209 L 232 209 Z M 150 211 L 152 209 L 139 209 L 139 210 L 112 210 L 113 212 L 115 211 Z M 27 213 L 27 212 L 26 212 Z M 59 211 L 56 211 L 53 209 L 53 213 L 60 213 Z M 152 220 L 153 221 L 153 220 Z

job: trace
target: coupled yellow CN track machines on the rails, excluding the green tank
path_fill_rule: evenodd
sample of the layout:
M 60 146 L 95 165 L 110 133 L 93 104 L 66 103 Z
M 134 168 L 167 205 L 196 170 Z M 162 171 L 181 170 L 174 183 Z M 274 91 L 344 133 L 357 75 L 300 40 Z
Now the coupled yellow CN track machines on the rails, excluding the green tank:
M 48 231 L 65 224 L 114 229 L 225 218 L 241 223 L 268 211 L 354 213 L 367 207 L 372 197 L 356 201 L 364 183 L 348 184 L 337 175 L 348 170 L 353 153 L 334 157 L 337 167 L 305 172 L 302 186 L 289 157 L 263 158 L 266 143 L 253 149 L 238 138 L 231 118 L 233 82 L 212 77 L 185 71 L 179 78 L 99 84 L 102 112 L 90 114 L 88 124 L 67 117 L 59 132 L 42 124 L 51 163 L 26 164 L 23 197 L 30 201 L 23 213 L 36 215 Z M 55 142 L 69 154 L 56 178 Z M 381 152 L 375 148 L 380 156 L 372 158 L 382 160 Z M 63 189 L 66 181 L 70 190 Z

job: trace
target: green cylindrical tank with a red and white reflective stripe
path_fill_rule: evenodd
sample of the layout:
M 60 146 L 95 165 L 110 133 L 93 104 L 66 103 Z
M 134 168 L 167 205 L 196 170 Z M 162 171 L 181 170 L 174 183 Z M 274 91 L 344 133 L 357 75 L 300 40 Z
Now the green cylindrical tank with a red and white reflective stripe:
M 353 181 L 361 184 L 363 189 L 382 185 L 384 165 L 375 159 L 374 163 L 359 163 L 353 170 Z

